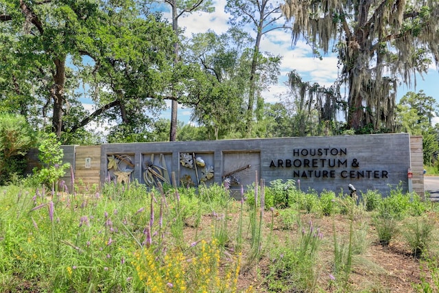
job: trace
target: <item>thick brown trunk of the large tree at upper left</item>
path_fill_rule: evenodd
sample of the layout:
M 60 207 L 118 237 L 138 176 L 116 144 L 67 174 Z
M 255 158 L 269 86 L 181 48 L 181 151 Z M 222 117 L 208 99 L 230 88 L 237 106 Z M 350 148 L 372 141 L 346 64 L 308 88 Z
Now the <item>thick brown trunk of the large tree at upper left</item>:
M 56 73 L 54 85 L 51 89 L 51 96 L 54 100 L 54 115 L 52 117 L 52 131 L 58 138 L 62 133 L 62 107 L 64 106 L 64 85 L 66 82 L 65 56 L 54 60 Z

